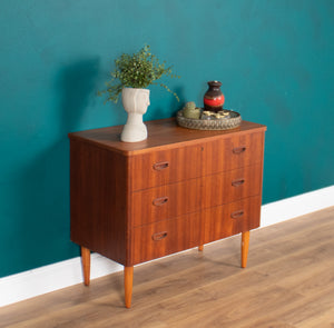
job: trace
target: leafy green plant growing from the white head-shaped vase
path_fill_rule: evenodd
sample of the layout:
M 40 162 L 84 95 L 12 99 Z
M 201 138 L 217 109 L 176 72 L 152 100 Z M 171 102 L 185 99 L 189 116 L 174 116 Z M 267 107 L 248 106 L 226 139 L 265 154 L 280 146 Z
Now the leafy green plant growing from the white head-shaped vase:
M 158 85 L 173 93 L 177 101 L 178 96 L 166 85 L 156 82 L 163 76 L 179 78 L 171 73 L 171 67 L 166 67 L 166 61 L 159 63 L 150 47 L 145 46 L 134 54 L 122 53 L 115 60 L 115 70 L 110 72 L 111 79 L 106 82 L 107 90 L 99 91 L 101 96 L 107 93 L 106 101 L 118 101 L 122 88 L 147 88 L 150 85 Z

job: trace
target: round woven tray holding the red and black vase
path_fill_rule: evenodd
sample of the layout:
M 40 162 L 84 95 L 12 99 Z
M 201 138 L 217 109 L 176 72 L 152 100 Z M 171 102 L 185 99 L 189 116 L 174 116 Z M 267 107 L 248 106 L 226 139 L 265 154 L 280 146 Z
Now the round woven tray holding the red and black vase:
M 242 116 L 233 110 L 224 109 L 229 112 L 229 117 L 222 119 L 200 120 L 184 117 L 183 110 L 176 115 L 176 120 L 180 127 L 195 130 L 229 130 L 235 129 L 242 123 Z

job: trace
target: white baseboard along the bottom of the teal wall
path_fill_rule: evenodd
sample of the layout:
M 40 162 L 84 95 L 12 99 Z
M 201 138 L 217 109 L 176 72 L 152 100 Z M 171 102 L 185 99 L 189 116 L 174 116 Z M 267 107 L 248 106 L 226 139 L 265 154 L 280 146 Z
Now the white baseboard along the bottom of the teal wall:
M 334 186 L 262 207 L 262 227 L 334 206 Z M 91 255 L 91 279 L 122 270 L 122 266 Z M 82 282 L 80 258 L 61 261 L 0 279 L 0 307 Z

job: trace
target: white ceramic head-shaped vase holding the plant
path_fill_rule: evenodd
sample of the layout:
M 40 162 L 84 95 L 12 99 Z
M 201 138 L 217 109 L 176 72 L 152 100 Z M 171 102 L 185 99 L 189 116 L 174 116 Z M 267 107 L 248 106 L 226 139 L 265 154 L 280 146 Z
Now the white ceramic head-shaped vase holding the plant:
M 128 119 L 120 135 L 125 142 L 137 142 L 147 139 L 147 128 L 143 122 L 143 115 L 149 106 L 149 90 L 137 88 L 124 88 L 121 91 L 124 109 Z

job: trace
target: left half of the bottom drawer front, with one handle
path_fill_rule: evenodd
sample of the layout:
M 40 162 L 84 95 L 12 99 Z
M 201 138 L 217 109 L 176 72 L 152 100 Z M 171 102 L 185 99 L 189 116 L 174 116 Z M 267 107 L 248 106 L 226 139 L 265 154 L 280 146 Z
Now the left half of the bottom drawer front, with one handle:
M 136 265 L 200 243 L 200 215 L 193 213 L 174 220 L 136 227 L 131 231 L 130 262 Z

